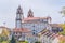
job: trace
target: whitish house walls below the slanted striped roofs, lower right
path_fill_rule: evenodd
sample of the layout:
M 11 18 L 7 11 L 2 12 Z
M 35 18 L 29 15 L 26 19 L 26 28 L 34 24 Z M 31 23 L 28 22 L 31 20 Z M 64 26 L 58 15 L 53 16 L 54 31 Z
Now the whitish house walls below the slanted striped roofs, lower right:
M 44 34 L 42 34 L 40 38 L 38 38 L 38 40 L 41 41 L 41 43 L 58 43 L 57 37 L 50 38 L 50 37 L 47 37 Z

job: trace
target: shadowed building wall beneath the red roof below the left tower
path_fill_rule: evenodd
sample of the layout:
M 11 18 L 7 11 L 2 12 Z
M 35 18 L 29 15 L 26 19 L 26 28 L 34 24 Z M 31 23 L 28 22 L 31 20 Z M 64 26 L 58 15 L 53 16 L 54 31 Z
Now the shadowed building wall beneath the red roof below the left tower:
M 13 35 L 15 37 L 15 39 L 17 39 L 18 41 L 25 41 L 26 35 L 29 34 L 31 32 L 13 32 Z

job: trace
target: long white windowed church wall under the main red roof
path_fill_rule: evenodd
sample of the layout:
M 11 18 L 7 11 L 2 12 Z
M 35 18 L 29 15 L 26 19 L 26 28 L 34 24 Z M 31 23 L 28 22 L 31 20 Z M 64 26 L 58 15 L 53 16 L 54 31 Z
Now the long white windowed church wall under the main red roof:
M 23 23 L 22 27 L 28 28 L 30 30 L 36 30 L 36 32 L 40 32 L 43 29 L 47 29 L 48 24 L 47 23 Z

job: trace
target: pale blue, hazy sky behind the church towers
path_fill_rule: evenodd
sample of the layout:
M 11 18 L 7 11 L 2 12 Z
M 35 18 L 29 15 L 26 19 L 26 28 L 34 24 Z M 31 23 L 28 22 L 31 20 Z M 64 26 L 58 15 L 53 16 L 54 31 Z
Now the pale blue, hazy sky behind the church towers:
M 54 24 L 65 20 L 60 13 L 65 6 L 65 0 L 0 0 L 0 26 L 3 26 L 5 22 L 6 27 L 15 27 L 16 9 L 20 4 L 25 17 L 28 10 L 31 9 L 36 17 L 51 16 Z

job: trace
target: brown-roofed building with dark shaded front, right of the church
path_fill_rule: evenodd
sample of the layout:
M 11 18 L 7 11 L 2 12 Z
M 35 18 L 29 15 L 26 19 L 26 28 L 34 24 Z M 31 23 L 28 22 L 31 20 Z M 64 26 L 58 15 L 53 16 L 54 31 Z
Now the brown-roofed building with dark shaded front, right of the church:
M 63 31 L 63 28 L 60 24 L 50 24 L 50 31 L 54 33 L 58 33 Z

